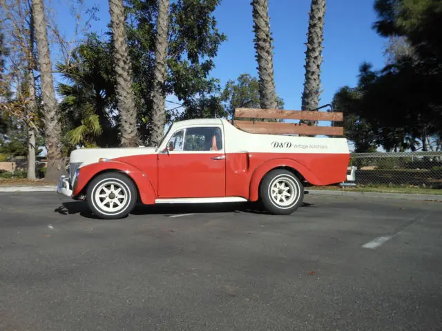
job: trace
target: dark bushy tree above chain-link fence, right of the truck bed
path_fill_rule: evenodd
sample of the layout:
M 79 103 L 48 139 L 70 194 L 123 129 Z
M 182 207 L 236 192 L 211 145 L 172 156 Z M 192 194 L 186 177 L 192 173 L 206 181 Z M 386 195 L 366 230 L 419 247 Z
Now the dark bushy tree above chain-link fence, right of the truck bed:
M 334 107 L 344 113 L 346 137 L 358 152 L 369 151 L 375 143 L 385 150 L 415 148 L 415 143 L 410 143 L 416 137 L 426 150 L 427 137 L 436 132 L 426 90 L 425 78 L 416 74 L 411 63 L 409 68 L 402 63 L 400 68 L 388 66 L 380 72 L 363 63 L 358 86 L 340 89 L 334 96 Z

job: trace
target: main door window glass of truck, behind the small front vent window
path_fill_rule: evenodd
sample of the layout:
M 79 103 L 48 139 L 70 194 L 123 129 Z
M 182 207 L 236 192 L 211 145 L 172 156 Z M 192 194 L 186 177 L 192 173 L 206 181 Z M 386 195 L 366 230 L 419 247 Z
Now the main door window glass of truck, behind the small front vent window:
M 186 129 L 184 150 L 194 152 L 222 150 L 221 129 L 216 127 Z

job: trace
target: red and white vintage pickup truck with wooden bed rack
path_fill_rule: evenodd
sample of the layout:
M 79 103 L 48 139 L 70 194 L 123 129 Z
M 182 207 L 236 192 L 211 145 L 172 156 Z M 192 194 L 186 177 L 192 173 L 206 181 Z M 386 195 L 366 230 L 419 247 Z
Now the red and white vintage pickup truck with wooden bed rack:
M 338 113 L 274 111 L 268 114 L 241 108 L 236 110 L 236 118 L 342 120 Z M 290 214 L 302 203 L 305 186 L 345 181 L 347 139 L 285 135 L 342 135 L 342 128 L 238 119 L 232 122 L 175 122 L 155 148 L 74 150 L 70 154 L 70 173 L 60 178 L 57 192 L 76 200 L 86 199 L 90 210 L 103 219 L 125 217 L 137 202 L 260 200 L 272 214 Z

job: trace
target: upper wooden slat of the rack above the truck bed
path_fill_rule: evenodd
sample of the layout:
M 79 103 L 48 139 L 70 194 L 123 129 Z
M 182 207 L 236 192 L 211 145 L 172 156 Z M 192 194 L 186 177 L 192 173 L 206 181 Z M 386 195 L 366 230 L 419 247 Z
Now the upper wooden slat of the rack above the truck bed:
M 310 121 L 343 121 L 342 112 L 310 112 L 307 110 L 280 110 L 236 108 L 235 117 L 251 119 L 307 119 Z

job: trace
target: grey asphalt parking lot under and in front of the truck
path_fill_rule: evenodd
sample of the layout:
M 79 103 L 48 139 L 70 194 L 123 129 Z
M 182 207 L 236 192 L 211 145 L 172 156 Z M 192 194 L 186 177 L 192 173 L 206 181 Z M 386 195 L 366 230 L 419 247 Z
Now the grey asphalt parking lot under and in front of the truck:
M 248 208 L 0 194 L 0 330 L 442 330 L 442 203 Z

